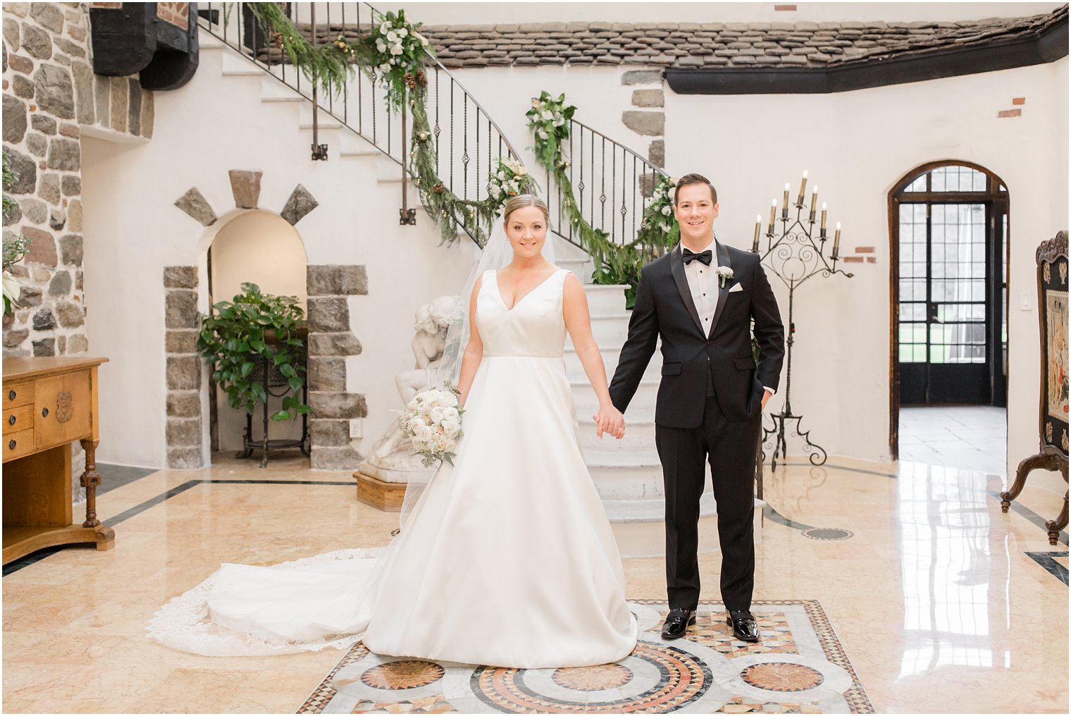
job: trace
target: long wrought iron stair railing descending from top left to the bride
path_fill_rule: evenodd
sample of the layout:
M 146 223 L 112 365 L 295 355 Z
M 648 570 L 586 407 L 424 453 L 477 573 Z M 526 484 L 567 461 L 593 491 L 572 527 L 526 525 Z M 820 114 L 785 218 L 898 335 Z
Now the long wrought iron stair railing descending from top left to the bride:
M 304 96 L 314 108 L 314 133 L 328 115 L 359 134 L 394 160 L 403 177 L 408 170 L 411 118 L 405 118 L 386 102 L 386 90 L 373 73 L 357 72 L 343 87 L 325 93 L 312 86 L 273 38 L 265 34 L 244 2 L 198 3 L 200 27 L 241 53 L 268 75 Z M 284 11 L 298 31 L 316 43 L 348 42 L 368 32 L 382 14 L 366 2 L 288 2 Z M 491 116 L 449 70 L 428 55 L 427 117 L 437 155 L 437 174 L 443 184 L 466 200 L 487 197 L 487 177 L 498 160 L 518 159 L 517 152 Z M 314 154 L 319 146 L 314 139 Z M 462 212 L 463 214 L 466 212 Z M 469 215 L 455 217 L 470 236 L 479 235 Z M 486 233 L 488 227 L 480 227 Z M 484 234 L 486 235 L 486 234 Z

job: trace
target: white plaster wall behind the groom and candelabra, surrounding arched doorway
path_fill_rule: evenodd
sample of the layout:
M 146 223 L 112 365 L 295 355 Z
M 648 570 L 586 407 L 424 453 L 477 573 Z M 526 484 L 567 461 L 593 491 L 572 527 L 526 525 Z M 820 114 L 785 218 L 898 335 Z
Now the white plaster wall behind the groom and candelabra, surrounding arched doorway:
M 630 68 L 502 68 L 455 74 L 514 145 L 531 143 L 524 111 L 546 89 L 565 92 L 576 119 L 646 153 L 651 137 L 621 123 Z M 719 190 L 719 236 L 750 248 L 784 182 L 803 169 L 829 203 L 842 249 L 876 247 L 877 264 L 849 265 L 854 279 L 815 278 L 797 293 L 793 407 L 831 454 L 889 456 L 888 192 L 912 168 L 959 159 L 1008 182 L 1011 196 L 1009 464 L 1037 444 L 1037 299 L 1034 251 L 1068 225 L 1068 62 L 836 94 L 666 93 L 666 164 L 674 176 L 706 174 Z M 1023 116 L 997 118 L 1026 98 Z M 531 161 L 530 152 L 524 152 Z M 542 178 L 541 178 L 542 179 Z M 1028 295 L 1029 310 L 1020 296 Z M 779 288 L 787 320 L 787 292 Z M 784 377 L 782 378 L 784 386 Z M 780 397 L 773 408 L 780 408 Z

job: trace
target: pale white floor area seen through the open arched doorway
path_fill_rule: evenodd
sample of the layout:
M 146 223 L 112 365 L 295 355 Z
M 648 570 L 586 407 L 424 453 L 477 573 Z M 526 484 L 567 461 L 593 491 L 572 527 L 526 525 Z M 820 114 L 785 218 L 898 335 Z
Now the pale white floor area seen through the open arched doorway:
M 900 460 L 1004 476 L 1007 419 L 1005 408 L 989 405 L 903 407 Z

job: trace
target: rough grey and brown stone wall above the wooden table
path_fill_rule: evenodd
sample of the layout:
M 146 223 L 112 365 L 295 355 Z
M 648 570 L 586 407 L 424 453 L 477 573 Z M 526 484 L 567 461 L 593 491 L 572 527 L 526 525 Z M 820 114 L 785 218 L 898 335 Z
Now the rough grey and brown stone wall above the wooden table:
M 80 137 L 150 137 L 152 93 L 136 77 L 93 74 L 86 3 L 4 3 L 2 51 L 3 151 L 19 175 L 3 234 L 30 239 L 13 267 L 22 296 L 3 353 L 84 354 Z

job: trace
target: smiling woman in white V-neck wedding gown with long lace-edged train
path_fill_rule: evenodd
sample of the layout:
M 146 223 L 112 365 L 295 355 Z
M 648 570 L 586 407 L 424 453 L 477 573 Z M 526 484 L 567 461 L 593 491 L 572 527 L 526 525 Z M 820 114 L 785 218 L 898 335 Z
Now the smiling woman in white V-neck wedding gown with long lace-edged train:
M 465 345 L 465 436 L 386 553 L 225 564 L 165 606 L 151 638 L 213 656 L 361 639 L 381 655 L 525 669 L 632 652 L 637 627 L 621 558 L 576 432 L 567 331 L 599 397 L 599 436 L 620 438 L 624 421 L 584 288 L 544 256 L 546 205 L 515 196 L 502 220 L 472 282 L 468 319 L 448 339 L 455 363 Z M 448 345 L 444 366 L 450 354 Z

